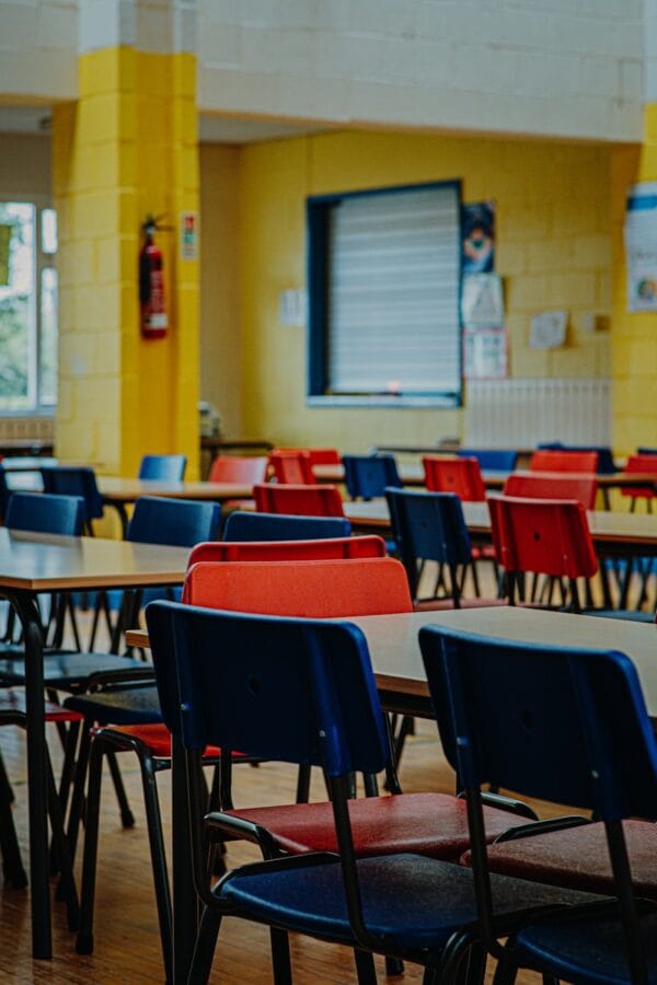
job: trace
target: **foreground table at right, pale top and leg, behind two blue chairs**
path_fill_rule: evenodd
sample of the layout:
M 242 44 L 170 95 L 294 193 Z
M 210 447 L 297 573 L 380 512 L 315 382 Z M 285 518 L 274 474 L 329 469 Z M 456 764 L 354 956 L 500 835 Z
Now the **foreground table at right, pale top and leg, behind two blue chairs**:
M 436 613 L 401 613 L 345 619 L 362 629 L 384 708 L 433 718 L 428 685 L 417 634 L 422 626 L 440 625 L 499 639 L 555 646 L 614 649 L 634 662 L 653 721 L 657 721 L 657 627 L 623 619 L 602 619 L 515 606 L 471 609 Z M 145 629 L 127 635 L 131 646 L 148 647 Z M 186 815 L 180 812 L 184 772 L 180 746 L 173 743 L 173 906 L 174 985 L 186 981 L 195 925 L 194 888 L 191 882 Z M 177 778 L 176 778 L 177 777 Z M 178 812 L 176 813 L 176 801 Z

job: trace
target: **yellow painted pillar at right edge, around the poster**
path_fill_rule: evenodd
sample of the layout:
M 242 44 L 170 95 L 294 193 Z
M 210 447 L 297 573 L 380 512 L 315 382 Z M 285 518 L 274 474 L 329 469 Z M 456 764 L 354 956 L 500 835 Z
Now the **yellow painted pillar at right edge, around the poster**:
M 644 141 L 612 155 L 613 192 L 613 448 L 632 454 L 657 448 L 657 312 L 627 310 L 627 266 L 623 242 L 627 188 L 657 181 L 657 103 L 645 107 Z

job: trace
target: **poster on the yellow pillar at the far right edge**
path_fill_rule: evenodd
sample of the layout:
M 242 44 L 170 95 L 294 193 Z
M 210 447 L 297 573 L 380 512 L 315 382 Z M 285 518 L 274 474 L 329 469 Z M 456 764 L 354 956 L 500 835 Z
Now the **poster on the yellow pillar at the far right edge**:
M 627 311 L 657 311 L 657 182 L 627 192 L 625 254 Z

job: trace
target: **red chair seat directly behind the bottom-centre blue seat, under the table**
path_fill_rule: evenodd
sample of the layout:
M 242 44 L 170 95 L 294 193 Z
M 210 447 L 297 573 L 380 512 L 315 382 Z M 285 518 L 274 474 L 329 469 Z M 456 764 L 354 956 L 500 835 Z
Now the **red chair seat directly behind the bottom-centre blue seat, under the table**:
M 266 827 L 284 851 L 337 851 L 333 808 L 327 801 L 227 813 Z M 484 815 L 491 839 L 523 823 L 495 808 L 484 808 Z M 416 853 L 456 861 L 470 844 L 465 801 L 447 793 L 364 797 L 349 801 L 349 816 L 354 848 L 361 858 Z

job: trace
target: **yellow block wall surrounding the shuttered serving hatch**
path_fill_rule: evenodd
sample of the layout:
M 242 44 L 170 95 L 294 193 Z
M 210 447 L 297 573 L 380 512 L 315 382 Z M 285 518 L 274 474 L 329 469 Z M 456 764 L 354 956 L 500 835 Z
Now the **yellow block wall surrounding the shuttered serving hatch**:
M 609 333 L 587 315 L 611 300 L 607 147 L 411 134 L 339 132 L 240 151 L 243 428 L 276 442 L 362 450 L 381 439 L 462 436 L 460 410 L 306 406 L 303 328 L 278 321 L 279 292 L 306 280 L 304 198 L 331 192 L 462 179 L 464 201 L 497 208 L 497 271 L 505 279 L 514 376 L 610 372 Z M 532 314 L 569 311 L 565 348 L 528 346 Z

